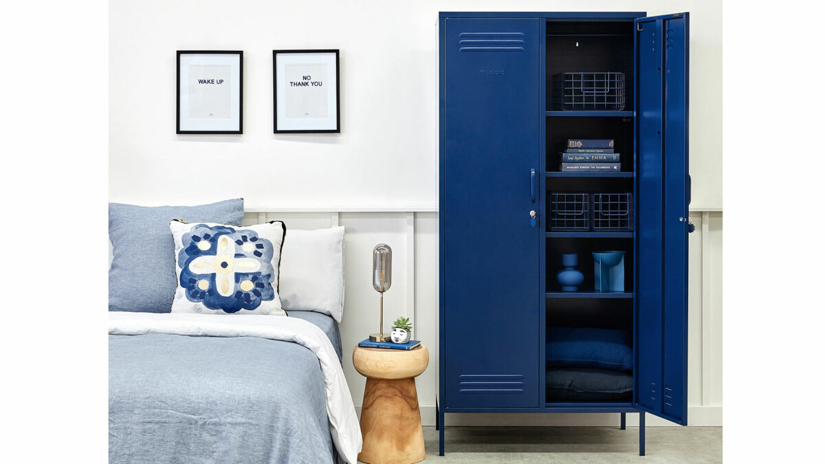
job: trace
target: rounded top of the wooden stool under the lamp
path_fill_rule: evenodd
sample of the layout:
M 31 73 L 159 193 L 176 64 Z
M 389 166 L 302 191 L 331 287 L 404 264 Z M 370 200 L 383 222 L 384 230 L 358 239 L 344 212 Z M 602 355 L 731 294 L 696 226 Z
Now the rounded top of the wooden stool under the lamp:
M 362 376 L 370 379 L 394 380 L 420 376 L 430 362 L 424 343 L 411 350 L 361 348 L 352 352 L 352 363 Z

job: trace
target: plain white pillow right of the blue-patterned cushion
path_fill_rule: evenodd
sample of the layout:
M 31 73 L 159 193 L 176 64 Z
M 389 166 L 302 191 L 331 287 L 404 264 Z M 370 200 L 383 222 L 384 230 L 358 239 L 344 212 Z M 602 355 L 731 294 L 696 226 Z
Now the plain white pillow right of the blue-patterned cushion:
M 290 230 L 281 259 L 285 310 L 344 315 L 344 228 Z

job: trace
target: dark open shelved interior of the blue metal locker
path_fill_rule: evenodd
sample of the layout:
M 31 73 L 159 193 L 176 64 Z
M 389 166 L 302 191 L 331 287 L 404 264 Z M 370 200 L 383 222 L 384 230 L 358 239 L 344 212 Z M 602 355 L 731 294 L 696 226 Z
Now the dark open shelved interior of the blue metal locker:
M 625 79 L 624 107 L 633 110 L 633 35 L 632 24 L 624 21 L 548 21 L 546 26 L 546 82 L 547 107 L 560 110 L 559 74 L 561 73 L 623 73 Z M 583 75 L 583 74 L 582 74 Z M 577 92 L 595 95 L 608 92 L 598 88 L 599 83 L 578 83 Z M 607 85 L 607 84 L 605 84 Z M 594 88 L 595 87 L 595 88 Z M 571 100 L 565 99 L 564 102 Z M 575 100 L 573 100 L 575 102 Z M 569 107 L 566 106 L 566 107 Z M 582 106 L 588 108 L 587 106 Z M 592 107 L 592 106 L 591 106 Z M 625 115 L 625 113 L 622 113 Z M 597 115 L 597 113 L 594 113 Z M 604 116 L 566 116 L 563 111 L 546 119 L 546 169 L 548 173 L 560 170 L 561 152 L 568 148 L 568 139 L 614 140 L 614 151 L 620 154 L 621 171 L 628 177 L 553 177 L 546 182 L 551 218 L 549 230 L 582 231 L 579 237 L 552 237 L 545 245 L 546 291 L 551 296 L 545 305 L 545 401 L 619 401 L 632 396 L 632 367 L 606 362 L 611 354 L 621 353 L 632 363 L 633 342 L 633 246 L 632 234 L 625 238 L 593 238 L 587 232 L 596 225 L 596 195 L 633 192 L 634 139 L 632 116 L 616 116 L 605 111 Z M 621 175 L 621 174 L 619 174 Z M 579 201 L 572 205 L 559 203 L 568 200 L 566 193 L 584 193 L 574 196 Z M 555 195 L 554 195 L 555 194 Z M 601 196 L 598 196 L 601 198 Z M 632 196 L 625 196 L 632 198 Z M 585 201 L 587 204 L 585 204 Z M 632 203 L 630 201 L 629 203 Z M 558 211 L 565 209 L 566 211 Z M 625 211 L 632 215 L 631 211 Z M 559 218 L 568 220 L 559 221 Z M 571 222 L 569 218 L 581 217 Z M 555 220 L 554 220 L 555 219 Z M 583 224 L 582 224 L 583 223 Z M 615 223 L 618 225 L 618 223 Z M 622 230 L 632 232 L 632 222 L 623 222 Z M 628 227 L 628 225 L 630 225 Z M 594 292 L 594 264 L 592 253 L 601 250 L 625 252 L 625 292 L 618 298 L 605 298 Z M 577 269 L 584 282 L 578 294 L 561 291 L 555 275 L 563 268 L 562 254 L 577 255 Z M 593 292 L 593 293 L 591 293 Z M 589 294 L 589 298 L 580 298 Z M 559 343 L 564 339 L 568 343 Z M 562 350 L 561 353 L 557 353 Z M 562 359 L 559 359 L 562 356 Z

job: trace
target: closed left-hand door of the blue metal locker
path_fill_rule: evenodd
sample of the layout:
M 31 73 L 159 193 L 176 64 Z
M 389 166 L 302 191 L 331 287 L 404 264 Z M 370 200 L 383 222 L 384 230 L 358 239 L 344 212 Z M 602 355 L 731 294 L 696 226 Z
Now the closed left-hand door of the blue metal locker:
M 537 407 L 541 21 L 442 31 L 441 406 Z

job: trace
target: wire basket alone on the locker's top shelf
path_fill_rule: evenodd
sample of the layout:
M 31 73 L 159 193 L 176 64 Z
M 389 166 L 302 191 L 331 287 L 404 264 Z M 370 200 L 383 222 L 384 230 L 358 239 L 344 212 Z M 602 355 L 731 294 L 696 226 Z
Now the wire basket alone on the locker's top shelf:
M 625 73 L 555 74 L 553 107 L 559 111 L 622 111 Z

